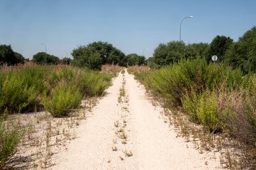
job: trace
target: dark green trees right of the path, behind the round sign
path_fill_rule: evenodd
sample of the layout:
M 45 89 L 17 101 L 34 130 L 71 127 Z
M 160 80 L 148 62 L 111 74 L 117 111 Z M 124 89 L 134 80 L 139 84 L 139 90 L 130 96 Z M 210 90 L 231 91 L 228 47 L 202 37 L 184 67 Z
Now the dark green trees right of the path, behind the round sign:
M 256 26 L 246 31 L 237 42 L 227 36 L 216 36 L 210 44 L 171 41 L 159 44 L 153 57 L 148 59 L 150 67 L 162 67 L 178 62 L 181 59 L 195 59 L 197 57 L 211 62 L 213 55 L 218 56 L 217 62 L 239 67 L 245 73 L 256 71 Z

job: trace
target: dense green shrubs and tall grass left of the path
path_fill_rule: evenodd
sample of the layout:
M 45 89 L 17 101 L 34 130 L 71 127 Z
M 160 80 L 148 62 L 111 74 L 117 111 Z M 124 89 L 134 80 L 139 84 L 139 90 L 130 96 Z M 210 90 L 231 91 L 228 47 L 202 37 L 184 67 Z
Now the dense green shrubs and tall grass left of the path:
M 6 108 L 11 113 L 26 112 L 36 104 L 54 116 L 66 115 L 83 97 L 102 95 L 111 78 L 109 74 L 65 65 L 0 71 L 0 114 Z M 67 103 L 72 99 L 76 101 Z

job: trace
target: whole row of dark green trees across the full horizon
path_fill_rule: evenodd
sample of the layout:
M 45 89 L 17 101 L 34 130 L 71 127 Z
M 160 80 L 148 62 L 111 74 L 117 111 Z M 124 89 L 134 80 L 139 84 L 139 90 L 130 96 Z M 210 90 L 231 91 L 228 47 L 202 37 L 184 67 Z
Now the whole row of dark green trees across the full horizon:
M 227 36 L 218 35 L 208 43 L 185 44 L 183 41 L 171 41 L 167 44 L 159 44 L 153 56 L 145 59 L 145 56 L 138 54 L 125 55 L 109 42 L 92 42 L 87 46 L 78 46 L 72 53 L 74 59 L 63 58 L 38 52 L 33 55 L 33 62 L 44 64 L 72 64 L 79 67 L 88 67 L 93 70 L 100 70 L 101 65 L 114 64 L 123 67 L 129 65 L 149 65 L 153 68 L 160 68 L 178 62 L 181 59 L 203 58 L 211 62 L 211 56 L 217 55 L 218 61 L 232 67 L 241 68 L 245 73 L 256 71 L 256 26 L 246 31 L 237 42 Z M 0 64 L 24 63 L 25 59 L 18 52 L 12 51 L 10 45 L 0 45 Z

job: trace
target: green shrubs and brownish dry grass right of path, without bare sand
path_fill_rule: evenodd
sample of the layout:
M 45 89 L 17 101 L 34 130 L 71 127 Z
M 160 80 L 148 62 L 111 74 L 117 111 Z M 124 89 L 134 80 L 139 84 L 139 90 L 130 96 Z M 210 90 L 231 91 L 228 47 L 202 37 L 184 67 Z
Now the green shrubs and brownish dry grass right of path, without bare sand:
M 164 99 L 173 113 L 186 113 L 189 121 L 202 124 L 213 136 L 228 134 L 250 148 L 248 155 L 255 155 L 256 75 L 243 75 L 239 69 L 208 64 L 203 59 L 181 60 L 160 70 L 129 72 L 151 94 Z

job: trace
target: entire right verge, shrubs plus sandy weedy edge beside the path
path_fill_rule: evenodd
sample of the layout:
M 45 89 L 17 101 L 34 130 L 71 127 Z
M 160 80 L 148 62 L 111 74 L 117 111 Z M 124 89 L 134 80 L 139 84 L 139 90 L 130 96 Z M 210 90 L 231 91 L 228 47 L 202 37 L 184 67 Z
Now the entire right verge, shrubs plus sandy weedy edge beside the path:
M 226 168 L 255 167 L 255 75 L 198 59 L 160 70 L 131 69 L 166 108 L 164 122 L 176 127 L 178 136 L 199 152 L 220 152 Z

